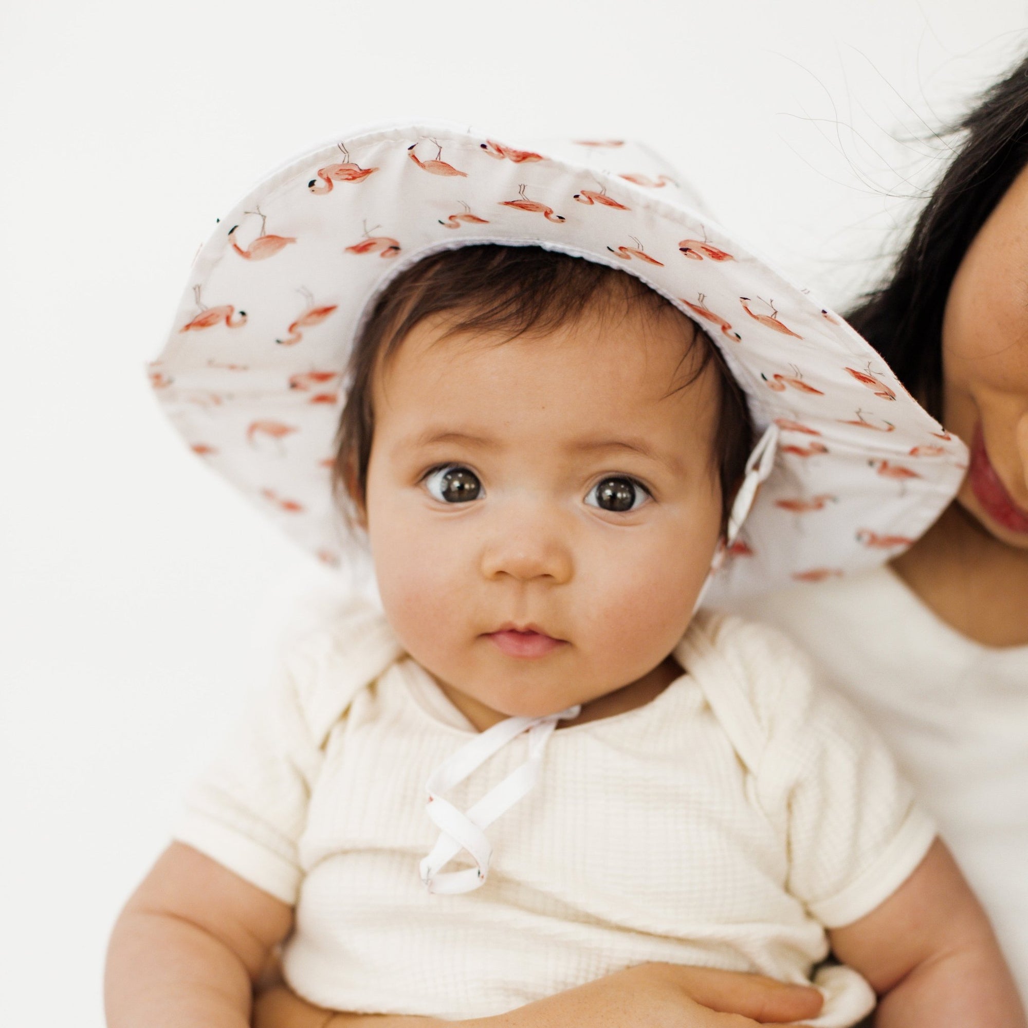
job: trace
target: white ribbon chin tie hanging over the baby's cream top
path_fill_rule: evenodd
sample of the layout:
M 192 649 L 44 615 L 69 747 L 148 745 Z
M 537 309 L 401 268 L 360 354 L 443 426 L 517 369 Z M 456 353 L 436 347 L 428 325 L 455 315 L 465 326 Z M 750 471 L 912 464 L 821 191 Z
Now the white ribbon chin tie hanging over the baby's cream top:
M 573 706 L 546 718 L 508 718 L 480 732 L 429 775 L 426 782 L 429 802 L 425 809 L 439 829 L 439 841 L 420 862 L 421 881 L 430 892 L 455 895 L 471 892 L 485 882 L 492 844 L 483 830 L 531 792 L 539 780 L 546 743 L 557 722 L 577 718 L 580 710 L 581 707 Z M 458 810 L 442 796 L 523 732 L 528 733 L 528 759 L 470 810 Z M 443 872 L 461 850 L 468 852 L 475 867 Z

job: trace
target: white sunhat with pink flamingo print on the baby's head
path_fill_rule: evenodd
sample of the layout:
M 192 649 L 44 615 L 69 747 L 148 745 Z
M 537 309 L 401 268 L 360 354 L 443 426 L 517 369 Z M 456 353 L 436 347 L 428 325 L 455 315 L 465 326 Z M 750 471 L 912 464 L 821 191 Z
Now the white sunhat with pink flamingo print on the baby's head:
M 296 157 L 198 252 L 150 365 L 156 394 L 193 451 L 293 539 L 329 563 L 360 561 L 330 484 L 351 346 L 399 271 L 483 243 L 637 276 L 724 354 L 764 434 L 751 485 L 767 480 L 755 500 L 744 490 L 752 509 L 713 598 L 879 563 L 956 492 L 966 448 L 877 352 L 729 235 L 680 173 L 621 140 L 513 146 L 412 123 Z

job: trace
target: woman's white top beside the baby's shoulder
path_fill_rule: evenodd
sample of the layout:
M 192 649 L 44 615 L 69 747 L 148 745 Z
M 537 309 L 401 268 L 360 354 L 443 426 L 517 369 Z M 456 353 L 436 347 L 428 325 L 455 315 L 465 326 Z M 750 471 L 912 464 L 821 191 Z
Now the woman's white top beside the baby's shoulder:
M 1028 1003 L 1028 646 L 985 647 L 890 570 L 747 605 L 885 737 L 938 818 Z

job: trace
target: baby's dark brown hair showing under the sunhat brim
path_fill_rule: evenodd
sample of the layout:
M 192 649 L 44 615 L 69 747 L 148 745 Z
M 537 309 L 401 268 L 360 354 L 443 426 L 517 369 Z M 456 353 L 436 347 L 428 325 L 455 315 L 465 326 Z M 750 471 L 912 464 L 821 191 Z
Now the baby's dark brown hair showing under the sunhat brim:
M 344 510 L 364 507 L 374 434 L 375 371 L 424 319 L 450 314 L 446 335 L 501 333 L 510 340 L 554 331 L 590 308 L 607 314 L 617 311 L 619 305 L 622 313 L 641 305 L 654 316 L 676 310 L 633 274 L 535 246 L 485 244 L 443 250 L 402 271 L 378 297 L 350 358 L 350 393 L 339 420 L 332 470 L 333 490 L 340 506 Z M 723 523 L 727 523 L 732 495 L 752 448 L 754 426 L 745 395 L 721 352 L 695 322 L 682 317 L 693 326 L 682 363 L 694 345 L 703 350 L 686 380 L 677 382 L 672 392 L 695 381 L 711 362 L 715 365 L 720 397 L 714 450 Z

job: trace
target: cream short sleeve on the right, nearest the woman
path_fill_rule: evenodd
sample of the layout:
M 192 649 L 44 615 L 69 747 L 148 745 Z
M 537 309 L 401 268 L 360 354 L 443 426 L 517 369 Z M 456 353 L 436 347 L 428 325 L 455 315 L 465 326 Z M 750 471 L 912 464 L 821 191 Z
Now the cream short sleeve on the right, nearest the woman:
M 787 659 L 767 714 L 762 793 L 784 809 L 788 890 L 825 927 L 869 914 L 923 859 L 935 837 L 884 741 L 809 661 L 775 633 Z

